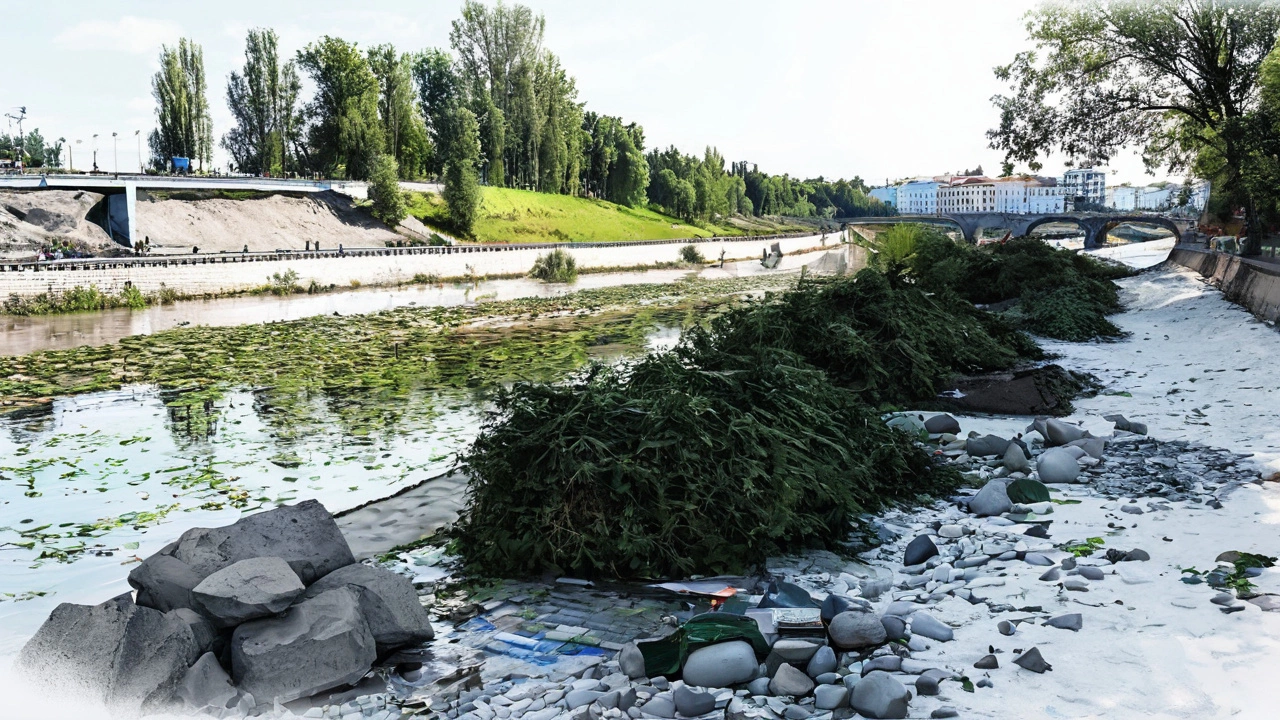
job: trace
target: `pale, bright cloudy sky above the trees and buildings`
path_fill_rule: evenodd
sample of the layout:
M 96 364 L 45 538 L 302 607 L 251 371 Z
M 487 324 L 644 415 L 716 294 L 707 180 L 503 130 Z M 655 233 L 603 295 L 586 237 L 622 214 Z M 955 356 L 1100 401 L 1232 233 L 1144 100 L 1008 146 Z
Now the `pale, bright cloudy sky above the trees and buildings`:
M 1025 46 L 1030 0 L 526 0 L 547 17 L 545 45 L 577 78 L 590 110 L 645 128 L 649 146 L 701 152 L 799 177 L 940 174 L 978 164 L 996 124 L 992 68 Z M 232 124 L 227 76 L 243 64 L 244 31 L 271 27 L 282 54 L 334 35 L 362 47 L 448 46 L 460 0 L 59 0 L 0 3 L 0 105 L 27 106 L 24 128 L 65 137 L 77 168 L 138 164 L 134 131 L 155 126 L 151 76 L 161 44 L 205 49 L 214 131 Z M 19 9 L 20 8 L 20 9 Z M 17 128 L 13 128 L 17 129 Z M 12 132 L 12 131 L 10 131 Z M 220 149 L 215 160 L 225 165 Z M 1057 174 L 1050 158 L 1044 173 Z M 1108 183 L 1148 182 L 1129 155 Z

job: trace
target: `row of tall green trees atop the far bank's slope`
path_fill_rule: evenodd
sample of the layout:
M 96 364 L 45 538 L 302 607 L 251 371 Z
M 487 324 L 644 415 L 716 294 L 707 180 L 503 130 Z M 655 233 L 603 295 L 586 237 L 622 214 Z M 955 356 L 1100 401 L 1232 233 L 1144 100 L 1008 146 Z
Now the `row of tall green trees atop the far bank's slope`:
M 714 149 L 703 158 L 675 147 L 645 155 L 643 127 L 585 109 L 573 77 L 543 45 L 545 26 L 524 5 L 466 0 L 448 50 L 362 50 L 325 36 L 293 58 L 280 55 L 274 31 L 251 29 L 244 64 L 227 82 L 236 124 L 220 143 L 250 174 L 369 179 L 375 169 L 380 178 L 394 169 L 402 179 L 461 183 L 447 195 L 463 232 L 480 184 L 653 204 L 690 222 L 884 211 L 858 178 L 797 181 L 746 163 L 726 169 Z M 310 99 L 301 96 L 303 78 L 315 86 Z M 152 92 L 156 169 L 172 156 L 201 169 L 211 163 L 201 47 L 187 38 L 163 47 Z

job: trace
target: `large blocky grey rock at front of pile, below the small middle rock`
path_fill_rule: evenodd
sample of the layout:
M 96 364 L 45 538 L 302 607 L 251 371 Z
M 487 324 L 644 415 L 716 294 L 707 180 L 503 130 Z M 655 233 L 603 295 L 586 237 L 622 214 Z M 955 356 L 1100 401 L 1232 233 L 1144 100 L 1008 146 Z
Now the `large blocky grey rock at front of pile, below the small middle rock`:
M 376 659 L 360 594 L 347 587 L 303 600 L 280 618 L 250 620 L 232 635 L 232 679 L 259 703 L 355 683 Z

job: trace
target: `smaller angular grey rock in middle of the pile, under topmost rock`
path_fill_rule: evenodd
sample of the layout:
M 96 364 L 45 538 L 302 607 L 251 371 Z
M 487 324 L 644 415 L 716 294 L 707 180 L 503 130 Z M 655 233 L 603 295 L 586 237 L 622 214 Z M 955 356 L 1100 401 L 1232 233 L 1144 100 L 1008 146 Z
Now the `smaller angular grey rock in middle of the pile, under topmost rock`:
M 250 557 L 200 582 L 191 597 L 219 628 L 283 612 L 307 588 L 279 557 Z

